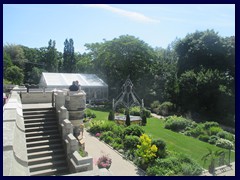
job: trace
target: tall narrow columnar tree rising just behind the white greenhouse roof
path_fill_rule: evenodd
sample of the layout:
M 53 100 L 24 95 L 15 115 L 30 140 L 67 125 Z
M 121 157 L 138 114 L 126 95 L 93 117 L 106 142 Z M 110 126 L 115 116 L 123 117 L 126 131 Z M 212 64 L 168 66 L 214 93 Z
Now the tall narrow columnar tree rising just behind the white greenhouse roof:
M 64 42 L 62 70 L 66 73 L 73 73 L 75 69 L 74 42 L 73 39 L 69 39 L 69 41 L 66 39 Z

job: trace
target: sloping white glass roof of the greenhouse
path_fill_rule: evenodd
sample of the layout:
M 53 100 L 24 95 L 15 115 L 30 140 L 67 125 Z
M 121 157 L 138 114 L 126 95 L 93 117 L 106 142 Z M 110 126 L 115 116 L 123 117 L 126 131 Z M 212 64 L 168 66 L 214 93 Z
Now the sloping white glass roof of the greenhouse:
M 95 74 L 77 73 L 47 73 L 43 72 L 39 84 L 45 86 L 70 86 L 78 80 L 81 86 L 107 86 L 107 84 Z

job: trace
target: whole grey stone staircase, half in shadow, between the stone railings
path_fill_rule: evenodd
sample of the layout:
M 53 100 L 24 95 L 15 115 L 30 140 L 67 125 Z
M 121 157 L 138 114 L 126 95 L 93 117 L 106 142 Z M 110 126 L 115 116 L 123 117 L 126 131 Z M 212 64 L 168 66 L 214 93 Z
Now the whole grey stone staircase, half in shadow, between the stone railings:
M 55 110 L 25 108 L 23 117 L 30 175 L 69 174 Z

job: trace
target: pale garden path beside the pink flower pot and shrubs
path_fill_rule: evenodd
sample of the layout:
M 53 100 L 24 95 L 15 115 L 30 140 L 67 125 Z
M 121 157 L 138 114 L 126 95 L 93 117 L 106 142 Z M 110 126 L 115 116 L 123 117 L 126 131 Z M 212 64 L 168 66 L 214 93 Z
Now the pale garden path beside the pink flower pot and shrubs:
M 84 131 L 85 150 L 88 155 L 93 157 L 94 168 L 98 168 L 95 164 L 97 159 L 105 154 L 109 155 L 112 159 L 112 165 L 109 171 L 113 176 L 143 176 L 144 173 L 138 169 L 132 162 L 124 159 L 118 152 L 113 150 L 110 146 L 102 141 L 99 141 L 96 137 Z

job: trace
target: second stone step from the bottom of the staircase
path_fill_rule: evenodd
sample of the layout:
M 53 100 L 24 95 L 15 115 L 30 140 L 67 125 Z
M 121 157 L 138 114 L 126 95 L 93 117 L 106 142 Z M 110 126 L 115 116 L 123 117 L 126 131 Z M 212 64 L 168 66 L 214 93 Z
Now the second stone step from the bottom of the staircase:
M 67 162 L 65 160 L 56 160 L 52 162 L 31 165 L 29 166 L 29 170 L 30 172 L 35 172 L 35 171 L 41 171 L 41 170 L 47 170 L 47 169 L 58 169 L 58 167 L 64 167 L 64 166 L 68 168 Z

